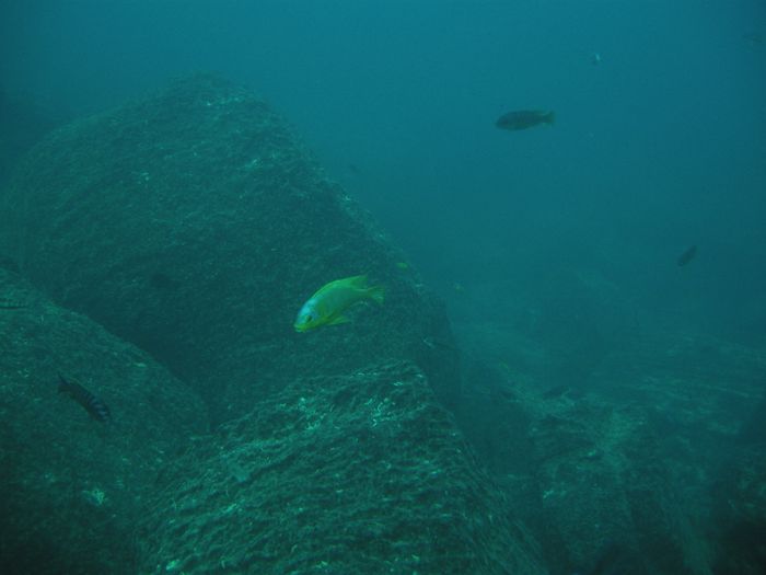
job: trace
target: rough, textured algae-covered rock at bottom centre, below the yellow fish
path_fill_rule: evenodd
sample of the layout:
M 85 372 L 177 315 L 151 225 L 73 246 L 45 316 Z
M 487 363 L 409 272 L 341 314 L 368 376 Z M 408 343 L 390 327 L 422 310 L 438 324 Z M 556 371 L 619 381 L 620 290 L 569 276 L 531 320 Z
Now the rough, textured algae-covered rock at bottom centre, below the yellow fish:
M 163 474 L 142 573 L 543 573 L 410 364 L 295 381 Z

